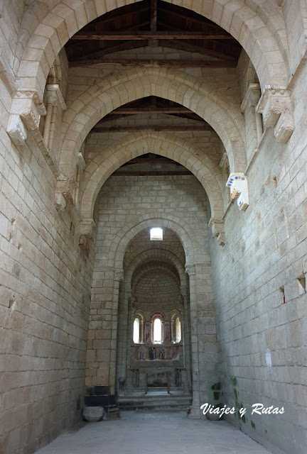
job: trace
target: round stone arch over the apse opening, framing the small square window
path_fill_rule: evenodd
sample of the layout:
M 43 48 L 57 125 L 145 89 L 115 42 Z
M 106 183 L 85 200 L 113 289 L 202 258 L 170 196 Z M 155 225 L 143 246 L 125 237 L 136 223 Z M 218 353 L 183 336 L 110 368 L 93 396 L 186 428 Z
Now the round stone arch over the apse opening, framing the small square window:
M 195 259 L 199 263 L 207 263 L 208 255 L 205 253 L 198 254 L 195 257 L 195 250 L 200 250 L 200 238 L 191 231 L 190 225 L 181 218 L 175 215 L 165 216 L 163 218 L 153 218 L 147 214 L 139 215 L 139 221 L 137 223 L 127 223 L 124 228 L 117 233 L 114 243 L 109 248 L 108 262 L 109 266 L 114 266 L 117 270 L 122 270 L 124 254 L 126 248 L 133 238 L 145 228 L 151 227 L 153 224 L 158 224 L 161 227 L 170 228 L 176 233 L 183 250 L 185 251 L 185 262 L 186 265 L 194 264 Z

